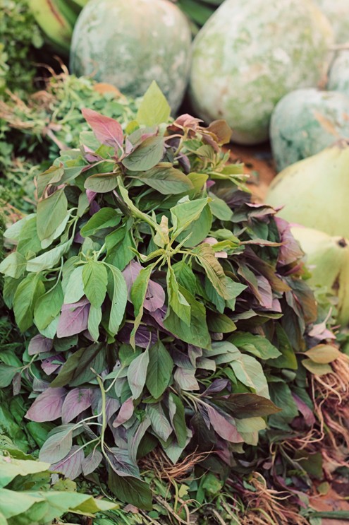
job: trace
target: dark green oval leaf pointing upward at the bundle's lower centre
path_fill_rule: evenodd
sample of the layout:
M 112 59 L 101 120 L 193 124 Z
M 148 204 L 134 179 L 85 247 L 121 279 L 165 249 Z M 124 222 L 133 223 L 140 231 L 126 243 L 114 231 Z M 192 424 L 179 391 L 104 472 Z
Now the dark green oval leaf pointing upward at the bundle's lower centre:
M 173 370 L 173 360 L 161 341 L 149 348 L 149 365 L 145 384 L 150 394 L 159 399 L 169 386 Z

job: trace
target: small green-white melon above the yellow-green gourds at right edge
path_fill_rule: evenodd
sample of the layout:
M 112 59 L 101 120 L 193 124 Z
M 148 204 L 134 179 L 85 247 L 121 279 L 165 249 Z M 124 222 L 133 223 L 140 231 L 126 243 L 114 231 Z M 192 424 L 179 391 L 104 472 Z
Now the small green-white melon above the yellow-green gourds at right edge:
M 270 139 L 278 171 L 349 138 L 349 97 L 335 91 L 300 89 L 278 102 Z

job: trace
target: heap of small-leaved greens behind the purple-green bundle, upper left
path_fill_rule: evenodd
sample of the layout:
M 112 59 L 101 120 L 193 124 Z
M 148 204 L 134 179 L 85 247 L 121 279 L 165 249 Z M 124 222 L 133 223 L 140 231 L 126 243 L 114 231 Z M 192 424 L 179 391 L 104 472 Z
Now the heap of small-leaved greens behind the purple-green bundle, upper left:
M 121 123 L 137 112 L 136 103 L 112 86 L 66 73 L 51 77 L 46 90 L 23 100 L 0 97 L 0 203 L 11 202 L 25 212 L 35 207 L 34 177 L 62 148 L 76 148 L 80 133 L 89 129 L 81 114 L 84 107 Z

